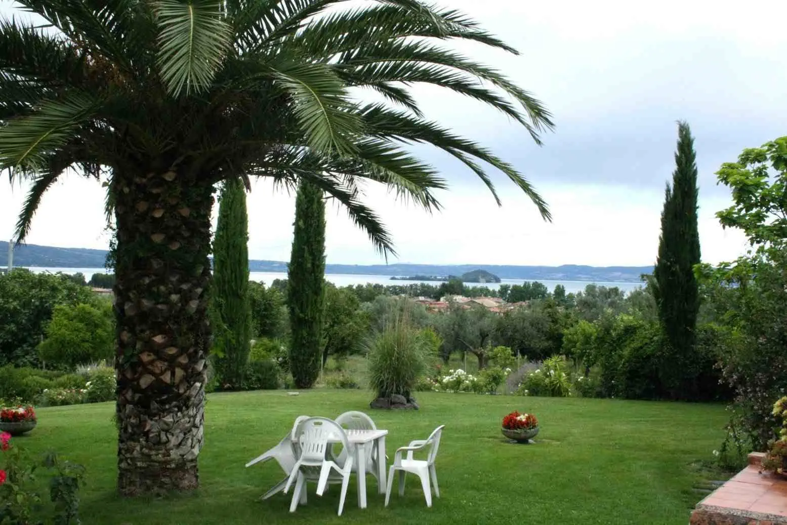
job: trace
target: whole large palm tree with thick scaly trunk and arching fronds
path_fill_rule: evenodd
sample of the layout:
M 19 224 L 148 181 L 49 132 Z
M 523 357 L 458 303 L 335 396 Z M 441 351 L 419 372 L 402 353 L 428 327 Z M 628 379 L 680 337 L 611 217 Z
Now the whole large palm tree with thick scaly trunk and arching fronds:
M 485 102 L 538 140 L 549 113 L 500 73 L 439 44 L 514 51 L 454 10 L 419 0 L 19 0 L 47 21 L 0 22 L 0 169 L 26 179 L 24 240 L 65 171 L 105 179 L 114 250 L 121 494 L 198 486 L 211 329 L 214 184 L 309 181 L 341 202 L 382 253 L 392 243 L 359 183 L 433 209 L 445 181 L 398 142 L 430 142 L 475 172 L 499 168 L 549 219 L 530 184 L 490 151 L 423 119 L 406 87 Z M 363 105 L 353 87 L 389 104 Z M 497 198 L 497 194 L 494 194 Z M 498 199 L 499 202 L 499 199 Z

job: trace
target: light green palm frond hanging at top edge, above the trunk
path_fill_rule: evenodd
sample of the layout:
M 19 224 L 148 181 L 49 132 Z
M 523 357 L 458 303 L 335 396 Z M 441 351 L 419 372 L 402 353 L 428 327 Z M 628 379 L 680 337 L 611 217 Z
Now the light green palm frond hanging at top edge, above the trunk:
M 232 42 L 220 0 L 156 0 L 158 65 L 172 95 L 205 91 Z

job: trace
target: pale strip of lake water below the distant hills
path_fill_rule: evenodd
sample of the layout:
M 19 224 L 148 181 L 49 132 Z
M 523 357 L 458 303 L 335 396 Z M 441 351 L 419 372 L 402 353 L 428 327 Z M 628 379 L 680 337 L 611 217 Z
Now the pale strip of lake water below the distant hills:
M 63 272 L 67 274 L 75 274 L 75 273 L 83 273 L 85 275 L 86 280 L 90 280 L 91 276 L 94 273 L 106 273 L 105 268 L 38 268 L 31 266 L 28 268 L 31 272 Z M 265 283 L 270 284 L 272 283 L 273 279 L 286 279 L 287 274 L 282 272 L 249 272 L 249 278 Z M 439 285 L 438 281 L 400 281 L 395 280 L 392 281 L 390 279 L 390 275 L 349 275 L 349 274 L 342 274 L 342 273 L 327 273 L 325 274 L 325 279 L 331 281 L 338 287 L 345 287 L 348 285 L 356 285 L 356 284 L 382 284 L 382 285 L 389 285 L 389 284 L 399 284 L 399 285 L 406 285 L 406 284 L 415 284 L 415 283 L 430 283 Z M 526 280 L 534 280 L 534 279 L 502 279 L 502 283 L 467 283 L 468 286 L 485 286 L 488 287 L 490 290 L 497 290 L 497 287 L 500 287 L 501 284 L 522 284 Z M 538 279 L 535 279 L 538 280 Z M 581 290 L 585 290 L 585 287 L 590 284 L 588 281 L 546 281 L 540 280 L 540 283 L 544 283 L 549 290 L 554 290 L 555 286 L 558 284 L 562 284 L 563 287 L 566 288 L 567 293 L 571 292 L 578 292 Z M 641 287 L 642 283 L 594 283 L 600 287 L 618 287 L 620 290 L 629 292 L 634 290 L 637 287 Z

